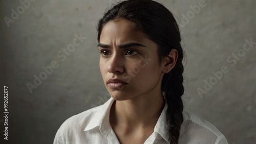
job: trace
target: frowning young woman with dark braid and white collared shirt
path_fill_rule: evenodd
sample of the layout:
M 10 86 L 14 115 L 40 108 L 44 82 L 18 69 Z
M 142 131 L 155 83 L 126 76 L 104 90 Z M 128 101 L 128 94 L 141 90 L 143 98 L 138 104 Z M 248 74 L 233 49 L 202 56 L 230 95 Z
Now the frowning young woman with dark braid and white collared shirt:
M 54 143 L 215 143 L 209 122 L 183 111 L 183 50 L 172 13 L 150 0 L 123 1 L 98 23 L 100 71 L 112 96 L 67 119 Z

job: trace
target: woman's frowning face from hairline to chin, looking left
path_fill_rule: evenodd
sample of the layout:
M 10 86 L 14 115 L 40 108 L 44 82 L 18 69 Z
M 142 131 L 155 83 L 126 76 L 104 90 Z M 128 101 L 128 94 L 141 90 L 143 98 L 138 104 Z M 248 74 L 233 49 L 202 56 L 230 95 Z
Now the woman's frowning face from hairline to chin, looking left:
M 115 19 L 101 31 L 98 49 L 106 89 L 116 100 L 161 93 L 163 66 L 157 44 L 134 29 L 129 20 Z

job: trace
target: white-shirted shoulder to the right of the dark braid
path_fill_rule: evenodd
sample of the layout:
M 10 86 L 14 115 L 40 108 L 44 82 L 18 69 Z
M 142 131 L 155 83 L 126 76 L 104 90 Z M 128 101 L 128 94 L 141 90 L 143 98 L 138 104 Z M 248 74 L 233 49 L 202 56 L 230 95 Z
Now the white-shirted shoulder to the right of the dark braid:
M 224 135 L 210 122 L 184 110 L 181 139 L 188 143 L 227 143 Z M 187 143 L 187 142 L 185 142 Z

